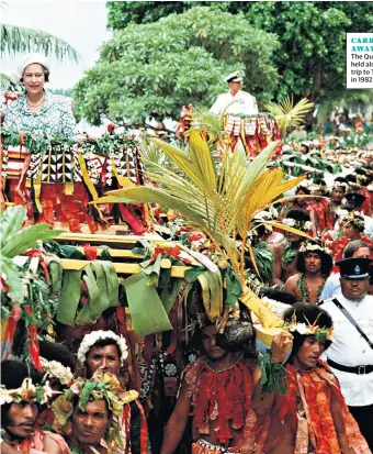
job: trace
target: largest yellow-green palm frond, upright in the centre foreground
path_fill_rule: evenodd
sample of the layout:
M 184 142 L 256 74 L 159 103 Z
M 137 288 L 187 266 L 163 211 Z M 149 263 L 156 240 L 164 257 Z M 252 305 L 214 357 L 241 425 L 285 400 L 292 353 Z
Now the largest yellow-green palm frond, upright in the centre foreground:
M 284 180 L 281 168 L 267 168 L 278 142 L 271 143 L 250 163 L 245 152 L 226 152 L 218 167 L 214 165 L 206 140 L 195 130 L 190 133 L 188 155 L 163 141 L 152 139 L 151 142 L 166 153 L 178 171 L 154 164 L 146 177 L 155 186 L 110 191 L 97 202 L 149 202 L 178 211 L 187 225 L 204 232 L 223 259 L 230 262 L 242 286 L 240 301 L 258 315 L 264 328 L 280 326 L 282 321 L 246 285 L 245 242 L 237 246 L 237 240 L 247 239 L 255 229 L 253 218 L 258 211 L 273 204 L 304 177 Z M 279 226 L 305 235 L 286 225 Z M 255 263 L 252 248 L 249 252 Z

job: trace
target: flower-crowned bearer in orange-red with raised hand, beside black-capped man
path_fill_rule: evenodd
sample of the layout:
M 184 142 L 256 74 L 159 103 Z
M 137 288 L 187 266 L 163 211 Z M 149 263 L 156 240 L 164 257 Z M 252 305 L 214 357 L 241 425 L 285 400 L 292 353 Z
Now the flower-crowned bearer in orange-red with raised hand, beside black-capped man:
M 253 373 L 259 418 L 256 454 L 371 454 L 338 379 L 320 359 L 332 342 L 332 320 L 318 306 L 296 303 L 271 356 Z

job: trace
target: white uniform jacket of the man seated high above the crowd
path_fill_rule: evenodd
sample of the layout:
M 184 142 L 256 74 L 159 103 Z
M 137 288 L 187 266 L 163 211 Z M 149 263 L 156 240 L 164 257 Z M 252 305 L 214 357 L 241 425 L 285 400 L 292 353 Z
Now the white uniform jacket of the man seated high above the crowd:
M 216 98 L 210 112 L 214 115 L 221 115 L 223 112 L 234 115 L 253 115 L 258 113 L 258 103 L 257 99 L 246 91 L 238 90 L 235 96 L 228 91 Z

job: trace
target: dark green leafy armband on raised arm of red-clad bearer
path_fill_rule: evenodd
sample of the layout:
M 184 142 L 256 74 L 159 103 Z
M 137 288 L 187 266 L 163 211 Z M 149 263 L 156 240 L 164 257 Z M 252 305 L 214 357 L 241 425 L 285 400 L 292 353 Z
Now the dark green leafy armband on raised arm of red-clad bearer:
M 267 392 L 278 391 L 280 395 L 286 395 L 286 369 L 283 364 L 274 363 L 270 353 L 258 354 L 258 364 L 261 370 L 260 385 L 262 390 L 260 397 Z

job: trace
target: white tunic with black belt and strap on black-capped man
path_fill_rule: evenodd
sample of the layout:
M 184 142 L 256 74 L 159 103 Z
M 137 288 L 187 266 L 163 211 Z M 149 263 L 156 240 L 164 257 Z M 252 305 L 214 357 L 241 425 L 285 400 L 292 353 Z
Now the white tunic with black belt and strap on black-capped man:
M 343 295 L 337 295 L 335 298 L 348 310 L 365 335 L 373 342 L 373 296 L 368 295 L 360 302 L 348 300 Z M 373 365 L 373 350 L 332 302 L 332 299 L 326 300 L 321 308 L 330 314 L 334 323 L 334 342 L 324 355 L 342 366 Z M 373 372 L 359 375 L 331 368 L 340 381 L 342 395 L 348 406 L 373 405 Z

